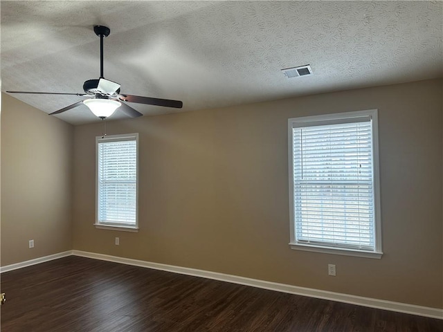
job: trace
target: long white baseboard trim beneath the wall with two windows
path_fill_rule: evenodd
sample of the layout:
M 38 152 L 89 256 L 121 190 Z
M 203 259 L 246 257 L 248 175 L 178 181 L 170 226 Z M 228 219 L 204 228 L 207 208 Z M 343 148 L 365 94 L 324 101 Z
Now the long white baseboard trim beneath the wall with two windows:
M 386 301 L 384 299 L 373 299 L 370 297 L 321 291 L 319 289 L 314 289 L 314 288 L 305 288 L 305 287 L 292 286 L 287 284 L 278 284 L 276 282 L 266 282 L 258 279 L 239 277 L 237 275 L 226 275 L 224 273 L 197 270 L 195 268 L 183 268 L 181 266 L 159 264 L 150 261 L 140 261 L 138 259 L 129 259 L 123 257 L 103 255 L 94 252 L 72 250 L 72 255 L 87 257 L 92 259 L 100 259 L 102 261 L 114 261 L 115 263 L 120 263 L 120 264 L 141 266 L 143 268 L 153 268 L 155 270 L 162 270 L 172 273 L 180 273 L 182 275 L 192 275 L 195 277 L 220 280 L 222 282 L 231 282 L 233 284 L 241 284 L 245 286 L 264 288 L 264 289 L 269 289 L 271 291 L 278 291 L 282 293 L 290 293 L 290 294 L 302 295 L 307 297 L 316 297 L 318 299 L 329 299 L 331 301 L 336 301 L 336 302 L 356 304 L 357 306 L 368 306 L 370 308 L 396 311 L 399 313 L 408 313 L 410 315 L 419 315 L 419 316 L 438 318 L 440 320 L 443 320 L 443 309 L 440 308 L 430 308 L 427 306 L 416 306 L 414 304 Z

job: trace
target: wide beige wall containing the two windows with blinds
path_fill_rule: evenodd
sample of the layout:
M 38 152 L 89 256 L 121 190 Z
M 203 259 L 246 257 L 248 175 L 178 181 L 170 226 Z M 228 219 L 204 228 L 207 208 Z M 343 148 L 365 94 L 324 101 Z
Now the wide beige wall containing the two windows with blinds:
M 362 109 L 379 109 L 385 255 L 291 250 L 287 119 Z M 75 127 L 74 249 L 443 308 L 442 80 L 109 121 L 140 134 L 138 233 L 93 227 L 102 129 Z

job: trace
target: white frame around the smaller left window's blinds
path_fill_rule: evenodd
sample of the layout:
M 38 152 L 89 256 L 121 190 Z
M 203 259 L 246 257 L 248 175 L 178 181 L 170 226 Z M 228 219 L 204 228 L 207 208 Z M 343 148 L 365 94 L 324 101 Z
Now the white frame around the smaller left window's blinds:
M 136 223 L 135 225 L 122 225 L 122 224 L 112 224 L 112 223 L 102 223 L 99 221 L 98 217 L 98 144 L 100 142 L 121 142 L 125 140 L 135 140 L 136 141 Z M 96 228 L 105 230 L 122 230 L 125 232 L 138 232 L 138 133 L 127 133 L 122 135 L 110 135 L 110 136 L 97 136 L 96 137 L 96 223 L 94 223 Z

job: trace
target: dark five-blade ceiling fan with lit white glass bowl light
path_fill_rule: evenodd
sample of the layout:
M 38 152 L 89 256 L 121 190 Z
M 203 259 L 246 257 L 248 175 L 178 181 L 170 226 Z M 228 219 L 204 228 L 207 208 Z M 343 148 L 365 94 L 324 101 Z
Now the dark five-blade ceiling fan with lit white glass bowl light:
M 60 93 L 60 92 L 31 92 L 31 91 L 6 91 L 7 93 L 33 93 L 40 95 L 80 95 L 91 96 L 86 100 L 80 100 L 59 109 L 49 115 L 60 114 L 81 104 L 85 104 L 98 118 L 102 120 L 111 116 L 116 109 L 123 111 L 127 116 L 136 118 L 143 116 L 125 102 L 135 102 L 138 104 L 148 104 L 164 107 L 174 107 L 181 109 L 183 102 L 179 100 L 159 99 L 142 97 L 140 95 L 127 95 L 120 93 L 120 84 L 112 82 L 103 77 L 103 38 L 108 37 L 111 30 L 107 26 L 94 26 L 94 32 L 100 37 L 100 78 L 98 80 L 87 80 L 83 84 L 84 93 Z

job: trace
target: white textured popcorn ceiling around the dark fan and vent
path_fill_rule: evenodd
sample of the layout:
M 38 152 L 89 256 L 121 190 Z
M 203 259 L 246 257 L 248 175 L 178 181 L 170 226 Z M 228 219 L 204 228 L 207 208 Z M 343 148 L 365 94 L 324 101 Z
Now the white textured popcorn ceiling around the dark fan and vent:
M 82 93 L 100 76 L 96 24 L 111 28 L 105 77 L 122 93 L 183 100 L 179 111 L 442 77 L 442 4 L 2 0 L 1 89 Z M 314 75 L 280 72 L 305 64 Z M 14 97 L 47 113 L 82 99 Z M 98 121 L 84 106 L 58 117 Z

